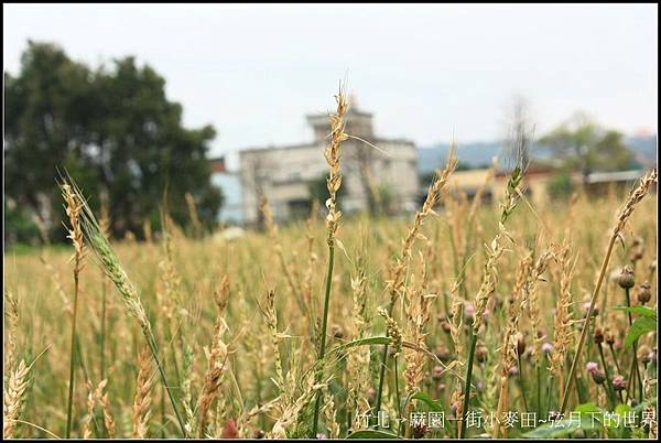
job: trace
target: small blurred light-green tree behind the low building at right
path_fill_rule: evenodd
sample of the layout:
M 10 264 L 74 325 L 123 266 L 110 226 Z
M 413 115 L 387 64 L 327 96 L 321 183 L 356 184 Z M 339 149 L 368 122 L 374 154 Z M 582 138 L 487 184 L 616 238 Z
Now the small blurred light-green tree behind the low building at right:
M 630 168 L 633 160 L 620 132 L 602 128 L 584 114 L 560 125 L 540 144 L 549 147 L 563 168 L 578 171 L 584 181 L 595 171 Z

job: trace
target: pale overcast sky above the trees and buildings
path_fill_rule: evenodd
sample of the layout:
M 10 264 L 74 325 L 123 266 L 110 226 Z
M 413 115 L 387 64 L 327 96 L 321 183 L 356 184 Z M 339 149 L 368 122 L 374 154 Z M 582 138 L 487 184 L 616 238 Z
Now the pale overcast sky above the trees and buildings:
M 167 80 L 214 154 L 310 140 L 345 76 L 383 137 L 494 140 L 512 95 L 538 132 L 582 109 L 657 131 L 658 7 L 3 6 L 4 69 L 26 40 L 93 65 L 136 55 Z

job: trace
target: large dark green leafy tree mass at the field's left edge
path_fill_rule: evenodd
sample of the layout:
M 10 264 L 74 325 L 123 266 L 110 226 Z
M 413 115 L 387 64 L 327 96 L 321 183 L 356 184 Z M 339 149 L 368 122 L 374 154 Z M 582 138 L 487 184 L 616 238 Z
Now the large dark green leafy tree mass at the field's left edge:
M 186 226 L 186 192 L 201 222 L 215 225 L 223 194 L 210 184 L 206 153 L 216 131 L 184 128 L 181 105 L 167 99 L 165 79 L 150 66 L 124 57 L 93 71 L 56 45 L 29 42 L 18 76 L 4 73 L 4 94 L 6 195 L 55 231 L 56 169 L 82 185 L 93 209 L 107 197 L 117 236 L 140 237 L 162 203 Z

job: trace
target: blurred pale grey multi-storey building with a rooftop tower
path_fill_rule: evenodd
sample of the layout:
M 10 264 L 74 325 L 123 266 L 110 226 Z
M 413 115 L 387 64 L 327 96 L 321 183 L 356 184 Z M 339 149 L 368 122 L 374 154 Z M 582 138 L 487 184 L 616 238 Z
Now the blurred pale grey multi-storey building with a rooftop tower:
M 373 194 L 387 187 L 394 212 L 416 208 L 418 152 L 412 141 L 376 137 L 372 115 L 349 108 L 346 132 L 371 144 L 350 138 L 342 144 L 340 173 L 345 194 L 344 212 L 365 209 Z M 275 220 L 307 214 L 312 206 L 310 183 L 328 174 L 324 149 L 330 133 L 325 114 L 307 116 L 314 140 L 308 143 L 247 149 L 240 152 L 240 175 L 246 224 L 259 223 L 259 190 L 263 190 Z

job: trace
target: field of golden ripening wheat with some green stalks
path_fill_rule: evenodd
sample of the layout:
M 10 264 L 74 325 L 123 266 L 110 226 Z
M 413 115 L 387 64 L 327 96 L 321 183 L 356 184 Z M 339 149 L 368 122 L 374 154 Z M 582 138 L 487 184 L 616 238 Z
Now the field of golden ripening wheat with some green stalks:
M 335 118 L 327 218 L 108 249 L 65 186 L 77 253 L 4 255 L 4 436 L 655 435 L 655 173 L 479 205 L 449 159 L 418 214 L 348 216 Z

